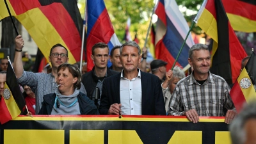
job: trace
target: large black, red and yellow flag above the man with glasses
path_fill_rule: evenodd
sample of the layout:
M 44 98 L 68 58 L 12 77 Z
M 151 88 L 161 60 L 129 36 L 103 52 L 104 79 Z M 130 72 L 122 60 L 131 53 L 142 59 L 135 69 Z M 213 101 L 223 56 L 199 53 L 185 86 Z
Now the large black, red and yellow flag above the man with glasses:
M 80 61 L 83 20 L 76 1 L 6 0 L 10 12 L 27 29 L 36 45 L 48 58 L 52 45 L 68 49 L 69 63 Z M 8 17 L 4 1 L 0 1 L 0 20 Z

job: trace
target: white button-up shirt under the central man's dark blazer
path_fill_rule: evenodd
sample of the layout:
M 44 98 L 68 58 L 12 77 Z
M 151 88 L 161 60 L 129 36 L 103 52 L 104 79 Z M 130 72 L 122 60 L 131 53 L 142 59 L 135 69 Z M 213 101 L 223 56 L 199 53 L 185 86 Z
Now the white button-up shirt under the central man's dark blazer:
M 141 74 L 129 80 L 124 77 L 124 70 L 120 80 L 120 102 L 122 115 L 141 115 Z

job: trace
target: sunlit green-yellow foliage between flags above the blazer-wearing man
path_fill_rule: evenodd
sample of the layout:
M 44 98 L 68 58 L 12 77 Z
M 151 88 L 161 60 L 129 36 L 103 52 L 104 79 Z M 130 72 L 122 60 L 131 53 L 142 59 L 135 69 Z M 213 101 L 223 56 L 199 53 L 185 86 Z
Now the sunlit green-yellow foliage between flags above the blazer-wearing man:
M 152 15 L 152 0 L 107 0 L 105 1 L 109 17 L 120 42 L 124 42 L 127 19 L 131 18 L 130 33 L 132 39 L 137 31 L 140 45 L 147 35 L 148 22 Z

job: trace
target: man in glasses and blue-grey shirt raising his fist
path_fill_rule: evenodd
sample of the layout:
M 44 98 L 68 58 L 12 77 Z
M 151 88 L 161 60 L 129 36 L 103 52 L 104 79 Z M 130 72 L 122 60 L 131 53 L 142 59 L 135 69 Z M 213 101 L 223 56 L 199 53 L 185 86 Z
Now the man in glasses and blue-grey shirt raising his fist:
M 26 72 L 22 65 L 22 47 L 24 41 L 21 35 L 15 38 L 15 57 L 13 68 L 17 77 L 17 80 L 22 85 L 28 85 L 30 88 L 35 89 L 36 94 L 36 114 L 42 107 L 43 97 L 49 93 L 54 93 L 57 90 L 57 68 L 62 63 L 68 62 L 68 51 L 61 45 L 53 45 L 49 54 L 49 62 L 52 64 L 52 72 L 50 74 L 45 73 L 33 73 Z M 82 84 L 80 92 L 86 94 L 86 90 Z

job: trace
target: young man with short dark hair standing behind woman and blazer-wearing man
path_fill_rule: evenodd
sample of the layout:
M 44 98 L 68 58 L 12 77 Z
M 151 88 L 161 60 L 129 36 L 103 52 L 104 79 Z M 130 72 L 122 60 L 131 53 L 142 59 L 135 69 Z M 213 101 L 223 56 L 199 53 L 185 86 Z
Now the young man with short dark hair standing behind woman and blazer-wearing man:
M 106 77 L 118 74 L 118 72 L 107 67 L 109 59 L 109 47 L 107 44 L 99 42 L 93 45 L 91 58 L 94 62 L 94 67 L 90 72 L 83 74 L 82 83 L 86 89 L 87 96 L 99 106 L 100 100 L 97 100 L 97 97 L 100 99 L 103 80 Z

